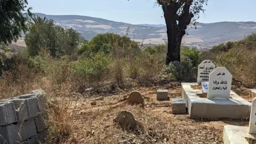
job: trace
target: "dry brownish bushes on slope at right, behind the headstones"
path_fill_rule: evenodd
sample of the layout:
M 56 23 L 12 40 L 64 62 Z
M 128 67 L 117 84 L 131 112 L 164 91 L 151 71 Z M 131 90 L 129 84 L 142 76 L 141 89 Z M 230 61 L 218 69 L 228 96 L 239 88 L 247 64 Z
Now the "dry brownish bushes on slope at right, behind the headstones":
M 256 35 L 246 36 L 241 41 L 227 42 L 203 51 L 203 59 L 212 60 L 215 65 L 226 67 L 233 78 L 248 86 L 256 84 L 254 67 L 256 66 Z

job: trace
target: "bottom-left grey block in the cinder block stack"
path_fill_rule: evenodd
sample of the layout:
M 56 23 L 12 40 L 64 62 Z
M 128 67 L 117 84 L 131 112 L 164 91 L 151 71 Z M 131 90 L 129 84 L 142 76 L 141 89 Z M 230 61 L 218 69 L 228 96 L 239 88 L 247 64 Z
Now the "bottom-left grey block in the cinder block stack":
M 15 143 L 19 142 L 19 125 L 10 124 L 5 126 L 0 126 L 0 143 Z

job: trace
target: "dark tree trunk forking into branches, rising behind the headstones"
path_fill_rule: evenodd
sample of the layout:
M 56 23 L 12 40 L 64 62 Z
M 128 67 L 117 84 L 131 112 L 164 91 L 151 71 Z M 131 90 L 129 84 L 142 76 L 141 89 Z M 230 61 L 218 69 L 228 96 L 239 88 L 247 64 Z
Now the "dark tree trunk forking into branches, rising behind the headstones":
M 187 26 L 196 24 L 199 12 L 205 11 L 203 5 L 208 0 L 157 0 L 162 6 L 167 28 L 168 51 L 166 65 L 180 61 L 180 46 L 182 37 L 186 34 Z

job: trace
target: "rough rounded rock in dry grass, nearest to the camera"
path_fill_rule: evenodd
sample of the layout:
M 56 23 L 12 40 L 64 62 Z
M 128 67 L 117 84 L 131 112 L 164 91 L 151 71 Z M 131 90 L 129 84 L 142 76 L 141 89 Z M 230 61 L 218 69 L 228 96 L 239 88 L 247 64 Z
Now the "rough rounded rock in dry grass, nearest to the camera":
M 119 124 L 123 129 L 134 130 L 137 128 L 137 121 L 131 111 L 121 110 L 113 121 Z

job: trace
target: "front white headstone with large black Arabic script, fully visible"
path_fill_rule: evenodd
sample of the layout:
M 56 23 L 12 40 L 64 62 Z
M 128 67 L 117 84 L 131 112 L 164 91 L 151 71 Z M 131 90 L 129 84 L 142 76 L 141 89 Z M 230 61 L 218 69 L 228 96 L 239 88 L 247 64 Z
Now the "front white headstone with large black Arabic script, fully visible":
M 218 67 L 209 76 L 207 99 L 229 99 L 232 75 L 225 67 Z

